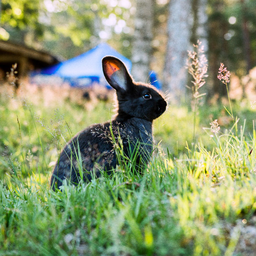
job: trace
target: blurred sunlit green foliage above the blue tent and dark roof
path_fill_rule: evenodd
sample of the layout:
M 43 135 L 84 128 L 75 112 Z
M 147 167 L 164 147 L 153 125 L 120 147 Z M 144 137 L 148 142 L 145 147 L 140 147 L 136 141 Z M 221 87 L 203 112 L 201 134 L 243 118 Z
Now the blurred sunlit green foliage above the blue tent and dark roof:
M 124 54 L 129 56 L 131 35 L 128 32 L 132 25 L 130 1 L 113 4 L 96 0 L 3 0 L 0 37 L 34 48 L 43 46 L 61 58 L 81 54 L 98 44 L 101 38 L 111 39 L 111 44 L 124 49 Z M 108 21 L 111 15 L 114 23 L 113 20 Z M 122 28 L 119 27 L 119 32 L 115 33 L 114 28 L 118 24 L 122 24 Z M 107 33 L 106 38 L 100 36 L 101 31 Z M 126 46 L 122 44 L 124 40 Z

